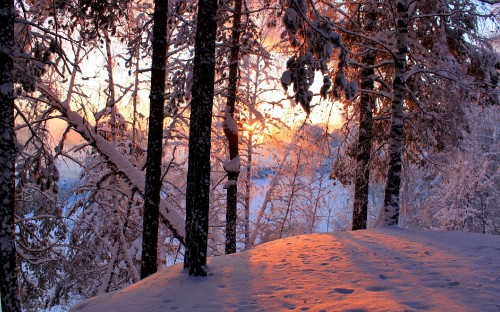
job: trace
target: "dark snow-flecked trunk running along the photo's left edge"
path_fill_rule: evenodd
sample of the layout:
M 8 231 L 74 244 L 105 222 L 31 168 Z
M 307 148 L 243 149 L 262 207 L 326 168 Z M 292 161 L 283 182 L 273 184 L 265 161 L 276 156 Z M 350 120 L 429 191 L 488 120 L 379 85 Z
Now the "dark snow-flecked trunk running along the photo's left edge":
M 14 1 L 0 0 L 0 295 L 2 311 L 21 311 L 14 234 Z

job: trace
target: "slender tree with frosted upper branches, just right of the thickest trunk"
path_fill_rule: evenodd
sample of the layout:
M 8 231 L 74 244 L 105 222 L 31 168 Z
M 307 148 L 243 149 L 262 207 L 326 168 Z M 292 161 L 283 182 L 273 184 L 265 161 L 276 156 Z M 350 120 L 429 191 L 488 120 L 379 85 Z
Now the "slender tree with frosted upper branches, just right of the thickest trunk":
M 261 3 L 252 4 L 249 7 L 248 4 L 243 5 L 243 1 L 236 0 L 232 8 L 221 7 L 219 11 L 222 24 L 218 27 L 218 33 L 222 43 L 217 50 L 219 59 L 217 73 L 220 76 L 220 82 L 227 81 L 227 87 L 220 92 L 227 99 L 222 127 L 227 138 L 229 151 L 229 159 L 223 168 L 225 171 L 237 169 L 237 171 L 226 171 L 228 180 L 224 184 L 224 188 L 227 190 L 226 253 L 236 252 L 237 239 L 238 176 L 241 164 L 238 118 L 246 105 L 238 90 L 239 85 L 242 84 L 241 79 L 244 78 L 240 72 L 240 63 L 241 59 L 248 54 L 266 53 L 262 42 L 259 42 L 260 38 L 257 37 L 258 26 L 255 20 L 260 18 L 260 12 L 270 10 L 268 5 Z M 244 10 L 243 6 L 245 6 Z M 227 19 L 230 19 L 231 23 L 224 23 Z

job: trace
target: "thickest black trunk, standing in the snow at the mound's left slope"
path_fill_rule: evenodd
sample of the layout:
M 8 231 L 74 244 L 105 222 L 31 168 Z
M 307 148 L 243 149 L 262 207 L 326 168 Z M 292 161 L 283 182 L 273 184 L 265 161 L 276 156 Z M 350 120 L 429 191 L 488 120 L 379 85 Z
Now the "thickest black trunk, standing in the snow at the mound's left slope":
M 215 75 L 217 0 L 200 0 L 194 47 L 186 189 L 186 265 L 206 276 L 210 206 L 210 137 Z

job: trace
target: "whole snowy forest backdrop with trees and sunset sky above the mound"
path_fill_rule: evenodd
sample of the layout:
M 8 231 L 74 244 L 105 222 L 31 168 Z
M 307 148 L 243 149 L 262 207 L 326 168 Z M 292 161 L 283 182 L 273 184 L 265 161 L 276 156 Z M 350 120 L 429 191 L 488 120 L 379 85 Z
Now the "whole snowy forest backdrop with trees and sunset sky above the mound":
M 0 0 L 2 311 L 370 227 L 500 234 L 498 0 Z

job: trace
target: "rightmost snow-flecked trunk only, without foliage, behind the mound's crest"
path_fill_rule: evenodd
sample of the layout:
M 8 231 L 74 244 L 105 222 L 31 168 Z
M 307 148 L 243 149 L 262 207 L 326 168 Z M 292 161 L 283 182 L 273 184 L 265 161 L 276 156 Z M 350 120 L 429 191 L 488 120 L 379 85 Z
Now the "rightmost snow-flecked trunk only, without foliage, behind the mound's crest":
M 379 225 L 397 225 L 399 220 L 399 189 L 403 151 L 403 103 L 405 93 L 406 55 L 408 51 L 408 0 L 396 1 L 397 52 L 392 83 L 391 129 L 389 133 L 389 168 L 385 185 L 384 205 Z

